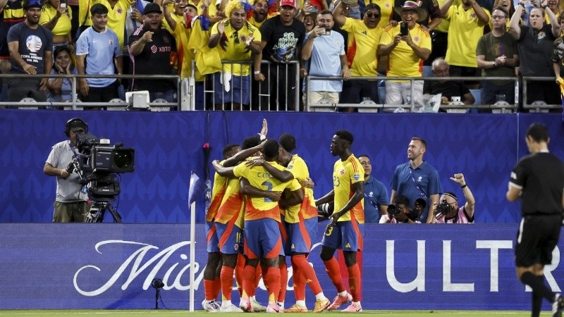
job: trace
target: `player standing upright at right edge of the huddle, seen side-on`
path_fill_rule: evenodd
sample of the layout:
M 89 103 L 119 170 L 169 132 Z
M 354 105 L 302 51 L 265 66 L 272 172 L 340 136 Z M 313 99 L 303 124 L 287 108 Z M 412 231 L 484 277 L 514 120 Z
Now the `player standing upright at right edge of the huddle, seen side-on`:
M 364 232 L 364 170 L 350 151 L 353 139 L 347 130 L 337 131 L 333 135 L 331 154 L 340 158 L 333 166 L 333 190 L 315 201 L 316 206 L 334 201 L 335 212 L 321 241 L 321 260 L 338 292 L 328 310 L 337 309 L 352 300 L 353 303 L 343 310 L 350 313 L 362 311 L 362 276 L 357 263 L 357 251 L 362 251 Z M 338 262 L 333 256 L 336 249 L 343 249 L 350 294 L 345 290 Z

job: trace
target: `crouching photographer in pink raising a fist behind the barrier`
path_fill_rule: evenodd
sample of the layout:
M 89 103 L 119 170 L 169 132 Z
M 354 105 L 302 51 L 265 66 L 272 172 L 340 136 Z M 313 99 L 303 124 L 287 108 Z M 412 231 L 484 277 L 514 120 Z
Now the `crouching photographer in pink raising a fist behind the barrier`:
M 462 187 L 466 204 L 458 208 L 458 200 L 453 192 L 445 192 L 439 199 L 440 204 L 433 204 L 436 223 L 474 223 L 474 206 L 476 200 L 464 180 L 462 173 L 455 174 L 450 180 Z

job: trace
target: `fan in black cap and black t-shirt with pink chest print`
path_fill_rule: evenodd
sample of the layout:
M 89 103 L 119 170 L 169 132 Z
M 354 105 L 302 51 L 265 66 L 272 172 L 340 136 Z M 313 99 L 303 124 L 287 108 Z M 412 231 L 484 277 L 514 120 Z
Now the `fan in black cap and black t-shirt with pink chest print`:
M 171 54 L 176 40 L 162 27 L 162 11 L 158 4 L 145 6 L 143 25 L 129 37 L 130 70 L 133 75 L 170 75 Z M 135 78 L 133 90 L 148 90 L 151 101 L 160 98 L 176 102 L 176 81 Z

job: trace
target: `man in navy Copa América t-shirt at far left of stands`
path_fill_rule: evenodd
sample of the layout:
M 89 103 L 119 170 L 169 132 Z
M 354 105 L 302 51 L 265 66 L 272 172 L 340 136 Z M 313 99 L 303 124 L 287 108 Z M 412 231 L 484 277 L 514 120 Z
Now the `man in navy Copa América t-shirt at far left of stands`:
M 48 80 L 35 75 L 51 73 L 53 35 L 50 30 L 39 25 L 39 0 L 26 1 L 24 9 L 25 20 L 10 27 L 7 41 L 11 73 L 32 76 L 13 78 L 8 82 L 8 101 L 16 102 L 25 97 L 46 101 Z

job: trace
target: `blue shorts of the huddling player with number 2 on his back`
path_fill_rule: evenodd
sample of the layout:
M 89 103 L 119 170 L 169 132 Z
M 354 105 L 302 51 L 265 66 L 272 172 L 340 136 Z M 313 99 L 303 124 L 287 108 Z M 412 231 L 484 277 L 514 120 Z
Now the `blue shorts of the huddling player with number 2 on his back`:
M 245 255 L 249 259 L 273 259 L 284 255 L 278 221 L 272 218 L 245 220 Z

